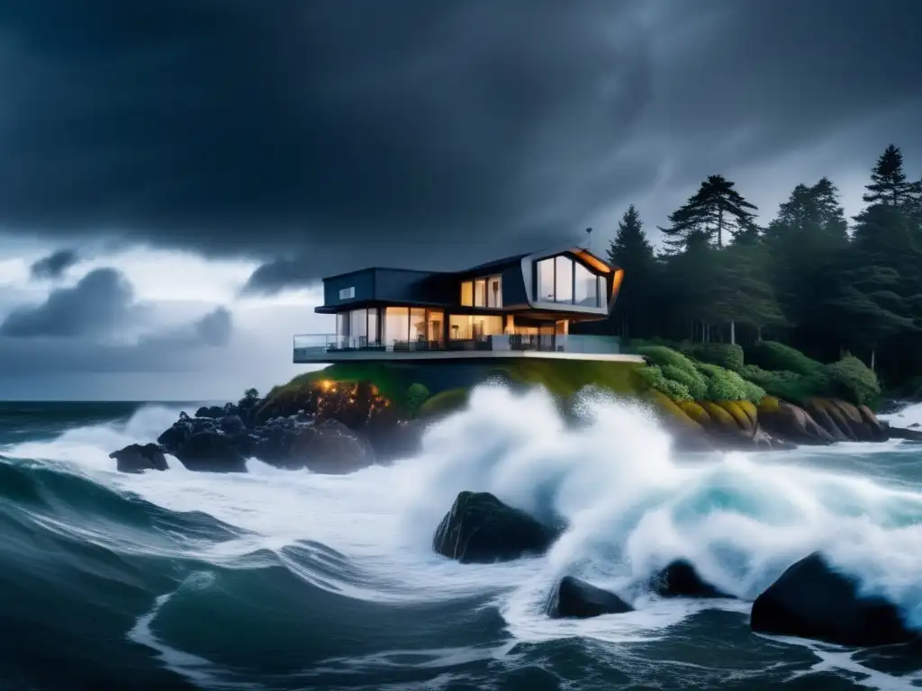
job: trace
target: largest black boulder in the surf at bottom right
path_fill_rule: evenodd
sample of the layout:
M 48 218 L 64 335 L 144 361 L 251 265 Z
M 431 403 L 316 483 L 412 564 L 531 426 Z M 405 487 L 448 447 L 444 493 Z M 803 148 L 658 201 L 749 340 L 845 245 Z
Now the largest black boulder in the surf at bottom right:
M 751 627 L 766 634 L 858 647 L 914 638 L 892 603 L 860 595 L 857 581 L 831 567 L 818 553 L 787 568 L 756 598 Z

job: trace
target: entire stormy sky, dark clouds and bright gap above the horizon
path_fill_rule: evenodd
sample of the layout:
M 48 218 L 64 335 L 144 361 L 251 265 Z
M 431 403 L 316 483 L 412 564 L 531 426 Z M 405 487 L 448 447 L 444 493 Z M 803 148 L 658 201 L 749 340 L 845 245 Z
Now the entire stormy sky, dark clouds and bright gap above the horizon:
M 0 399 L 300 369 L 319 276 L 922 172 L 918 0 L 0 0 Z M 655 234 L 655 232 L 654 232 Z

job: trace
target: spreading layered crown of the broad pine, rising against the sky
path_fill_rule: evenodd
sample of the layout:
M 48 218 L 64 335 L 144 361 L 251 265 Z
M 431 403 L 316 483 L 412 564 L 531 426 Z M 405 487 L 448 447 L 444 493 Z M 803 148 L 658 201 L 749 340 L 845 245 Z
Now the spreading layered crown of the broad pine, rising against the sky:
M 677 252 L 691 245 L 715 244 L 722 248 L 725 240 L 755 240 L 759 234 L 755 224 L 758 209 L 734 187 L 722 175 L 709 175 L 698 192 L 669 216 L 671 226 L 659 228 L 667 246 Z

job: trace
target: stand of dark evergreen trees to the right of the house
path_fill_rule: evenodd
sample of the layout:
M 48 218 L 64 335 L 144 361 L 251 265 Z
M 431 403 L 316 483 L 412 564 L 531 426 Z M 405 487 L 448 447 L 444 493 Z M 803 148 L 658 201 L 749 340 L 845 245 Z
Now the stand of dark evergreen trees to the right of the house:
M 659 228 L 662 252 L 629 206 L 609 247 L 625 269 L 609 331 L 771 337 L 825 361 L 852 353 L 894 384 L 922 376 L 922 178 L 887 146 L 862 199 L 848 219 L 832 180 L 798 182 L 761 228 L 735 183 L 709 175 Z

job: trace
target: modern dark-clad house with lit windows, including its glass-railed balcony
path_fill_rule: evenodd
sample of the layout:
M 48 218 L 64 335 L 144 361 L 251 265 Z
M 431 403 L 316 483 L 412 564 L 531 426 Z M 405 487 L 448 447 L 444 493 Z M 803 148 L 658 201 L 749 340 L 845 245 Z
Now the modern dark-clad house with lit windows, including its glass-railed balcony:
M 615 336 L 570 334 L 607 319 L 624 272 L 581 247 L 446 273 L 367 268 L 324 279 L 332 334 L 295 336 L 295 363 L 476 357 L 629 359 Z

